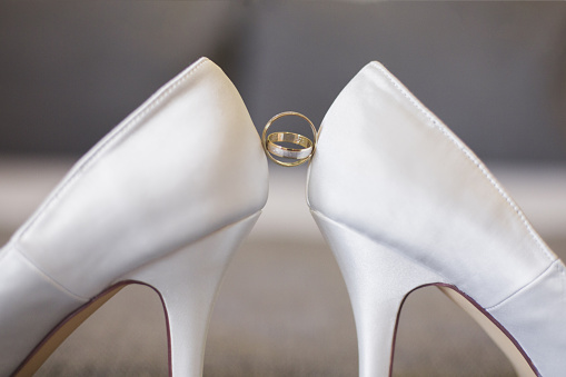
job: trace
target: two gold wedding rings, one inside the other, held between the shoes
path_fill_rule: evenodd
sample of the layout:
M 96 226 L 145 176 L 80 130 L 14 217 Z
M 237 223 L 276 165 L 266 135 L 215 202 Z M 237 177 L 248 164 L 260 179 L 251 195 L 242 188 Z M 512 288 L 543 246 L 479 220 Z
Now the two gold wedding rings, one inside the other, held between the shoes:
M 272 132 L 269 136 L 267 136 L 269 127 L 271 127 L 271 125 L 276 120 L 288 116 L 295 116 L 305 119 L 309 123 L 310 129 L 312 130 L 315 142 L 312 142 L 309 138 L 295 132 Z M 315 128 L 315 125 L 312 125 L 310 119 L 295 111 L 281 112 L 275 116 L 274 118 L 269 119 L 266 127 L 264 128 L 264 133 L 261 135 L 261 143 L 264 146 L 267 157 L 269 157 L 277 165 L 281 165 L 285 167 L 294 167 L 307 162 L 315 152 L 316 139 L 317 130 Z M 290 142 L 302 148 L 288 148 L 279 145 L 278 142 Z M 275 157 L 288 158 L 296 161 L 292 162 L 281 161 L 276 159 Z

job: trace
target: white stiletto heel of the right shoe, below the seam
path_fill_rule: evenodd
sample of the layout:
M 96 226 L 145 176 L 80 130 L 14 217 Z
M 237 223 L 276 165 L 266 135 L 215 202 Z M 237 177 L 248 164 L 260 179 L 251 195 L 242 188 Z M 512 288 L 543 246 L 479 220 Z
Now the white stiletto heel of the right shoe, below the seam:
M 394 248 L 311 211 L 342 274 L 356 320 L 360 376 L 388 376 L 407 295 L 444 279 Z

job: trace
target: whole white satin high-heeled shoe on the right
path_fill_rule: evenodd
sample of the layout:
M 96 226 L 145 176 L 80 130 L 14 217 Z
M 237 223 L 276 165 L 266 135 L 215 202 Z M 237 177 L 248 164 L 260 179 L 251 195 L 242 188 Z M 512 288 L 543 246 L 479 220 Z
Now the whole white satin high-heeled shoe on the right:
M 398 312 L 436 285 L 520 376 L 566 374 L 566 270 L 484 163 L 381 65 L 322 121 L 308 204 L 346 280 L 360 376 L 388 376 Z

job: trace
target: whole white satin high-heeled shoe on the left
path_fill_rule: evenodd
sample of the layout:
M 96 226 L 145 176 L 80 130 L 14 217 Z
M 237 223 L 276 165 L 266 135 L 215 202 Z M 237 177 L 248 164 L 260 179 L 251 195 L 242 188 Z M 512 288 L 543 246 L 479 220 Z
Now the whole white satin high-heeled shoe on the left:
M 170 374 L 202 373 L 230 255 L 267 200 L 236 88 L 202 58 L 98 142 L 0 250 L 0 376 L 33 374 L 128 284 L 161 297 Z

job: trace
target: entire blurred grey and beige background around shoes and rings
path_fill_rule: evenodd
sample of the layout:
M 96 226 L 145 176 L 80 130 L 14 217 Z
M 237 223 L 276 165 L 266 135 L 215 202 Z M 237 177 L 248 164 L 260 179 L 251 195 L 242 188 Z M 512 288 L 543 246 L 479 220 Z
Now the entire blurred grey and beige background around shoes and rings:
M 4 0 L 0 244 L 81 153 L 201 56 L 232 79 L 258 129 L 284 110 L 318 125 L 357 71 L 381 61 L 566 256 L 564 2 Z M 270 173 L 268 206 L 219 295 L 205 375 L 354 376 L 354 319 L 305 206 L 306 170 Z M 435 289 L 411 295 L 396 347 L 398 376 L 513 376 Z M 39 375 L 167 375 L 157 296 L 121 291 Z

